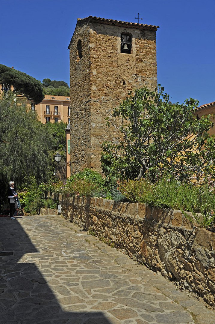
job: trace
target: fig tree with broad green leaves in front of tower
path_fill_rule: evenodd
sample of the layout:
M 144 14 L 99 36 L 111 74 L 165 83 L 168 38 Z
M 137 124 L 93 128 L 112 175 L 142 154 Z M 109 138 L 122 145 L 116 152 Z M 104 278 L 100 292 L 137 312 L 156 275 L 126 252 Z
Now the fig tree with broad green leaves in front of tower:
M 186 180 L 191 174 L 214 172 L 215 136 L 207 132 L 213 123 L 209 116 L 197 119 L 195 99 L 184 104 L 169 103 L 169 96 L 159 85 L 158 92 L 146 87 L 134 90 L 134 95 L 113 110 L 107 124 L 120 129 L 119 144 L 104 142 L 101 165 L 106 184 L 111 187 L 119 179 L 151 179 L 171 174 Z

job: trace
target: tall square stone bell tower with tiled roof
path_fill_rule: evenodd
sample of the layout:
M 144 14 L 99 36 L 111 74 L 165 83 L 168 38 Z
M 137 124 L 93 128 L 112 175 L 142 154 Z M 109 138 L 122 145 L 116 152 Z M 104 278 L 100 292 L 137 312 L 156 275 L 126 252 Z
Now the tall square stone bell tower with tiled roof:
M 129 91 L 157 86 L 158 26 L 87 17 L 70 41 L 71 173 L 101 171 L 101 145 L 120 139 L 105 118 Z

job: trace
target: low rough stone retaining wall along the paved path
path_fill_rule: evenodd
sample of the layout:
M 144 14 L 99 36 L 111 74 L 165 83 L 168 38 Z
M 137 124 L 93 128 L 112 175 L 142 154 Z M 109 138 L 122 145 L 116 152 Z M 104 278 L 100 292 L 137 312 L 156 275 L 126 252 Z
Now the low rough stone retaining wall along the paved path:
M 192 214 L 78 196 L 59 195 L 59 203 L 69 221 L 91 226 L 130 258 L 215 306 L 215 233 L 198 227 Z

